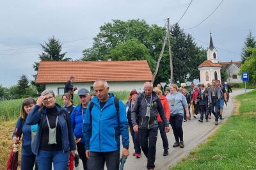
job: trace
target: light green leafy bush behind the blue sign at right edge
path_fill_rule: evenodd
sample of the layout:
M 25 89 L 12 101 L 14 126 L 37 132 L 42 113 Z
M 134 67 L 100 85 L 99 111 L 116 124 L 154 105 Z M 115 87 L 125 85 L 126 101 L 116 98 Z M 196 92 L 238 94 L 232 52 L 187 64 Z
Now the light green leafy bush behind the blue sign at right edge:
M 239 74 L 241 75 L 242 72 L 248 72 L 249 82 L 251 84 L 256 84 L 256 48 L 249 48 L 248 51 L 250 51 L 252 54 L 241 65 Z

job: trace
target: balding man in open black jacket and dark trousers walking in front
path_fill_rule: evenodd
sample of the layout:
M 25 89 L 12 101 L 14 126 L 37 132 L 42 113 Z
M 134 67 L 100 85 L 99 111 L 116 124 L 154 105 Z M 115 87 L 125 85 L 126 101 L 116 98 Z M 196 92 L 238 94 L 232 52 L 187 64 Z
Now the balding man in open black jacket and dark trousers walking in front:
M 155 168 L 158 113 L 165 124 L 165 132 L 169 132 L 169 123 L 164 114 L 163 105 L 153 91 L 153 84 L 152 82 L 145 82 L 144 91 L 136 98 L 131 116 L 133 130 L 140 135 L 141 150 L 147 157 L 148 169 Z

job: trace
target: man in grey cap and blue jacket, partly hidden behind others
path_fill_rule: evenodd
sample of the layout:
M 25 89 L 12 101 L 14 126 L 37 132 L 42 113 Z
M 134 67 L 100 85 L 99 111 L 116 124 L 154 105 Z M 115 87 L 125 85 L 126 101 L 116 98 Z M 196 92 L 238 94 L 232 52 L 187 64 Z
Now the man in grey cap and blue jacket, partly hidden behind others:
M 83 161 L 83 169 L 86 168 L 86 155 L 84 148 L 84 135 L 83 135 L 83 120 L 84 114 L 90 102 L 89 91 L 86 88 L 81 88 L 77 92 L 81 104 L 77 105 L 71 113 L 72 128 L 76 137 L 77 152 Z

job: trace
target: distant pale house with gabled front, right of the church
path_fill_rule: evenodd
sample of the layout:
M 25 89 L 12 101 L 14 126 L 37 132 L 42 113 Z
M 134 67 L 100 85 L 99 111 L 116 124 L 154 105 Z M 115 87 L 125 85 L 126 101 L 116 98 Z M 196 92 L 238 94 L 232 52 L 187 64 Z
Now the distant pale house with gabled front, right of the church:
M 241 75 L 239 75 L 239 70 L 241 66 L 241 61 L 229 61 L 229 62 L 220 62 L 220 65 L 225 69 L 228 78 L 228 83 L 241 83 Z

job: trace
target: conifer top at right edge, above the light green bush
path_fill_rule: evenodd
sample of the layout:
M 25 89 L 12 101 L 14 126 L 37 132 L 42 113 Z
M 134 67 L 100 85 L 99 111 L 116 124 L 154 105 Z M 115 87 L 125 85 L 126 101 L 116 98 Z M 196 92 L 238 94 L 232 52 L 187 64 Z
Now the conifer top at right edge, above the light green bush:
M 244 42 L 244 47 L 241 52 L 242 63 L 244 63 L 244 61 L 246 61 L 246 59 L 248 59 L 252 55 L 252 52 L 250 50 L 248 50 L 248 48 L 250 48 L 250 47 L 252 47 L 252 48 L 256 47 L 255 36 L 252 35 L 251 30 L 249 30 L 249 34 L 246 37 L 246 40 Z

